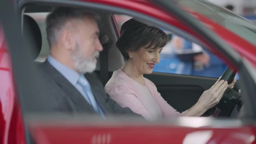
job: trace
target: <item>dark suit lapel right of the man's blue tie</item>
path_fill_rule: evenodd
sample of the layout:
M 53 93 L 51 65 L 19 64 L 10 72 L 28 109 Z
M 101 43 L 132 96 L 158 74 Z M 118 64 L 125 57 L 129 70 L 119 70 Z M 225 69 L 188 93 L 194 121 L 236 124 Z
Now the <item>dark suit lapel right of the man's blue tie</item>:
M 105 96 L 106 93 L 103 88 L 103 85 L 101 84 L 101 82 L 96 81 L 97 78 L 94 78 L 95 75 L 86 73 L 85 77 L 91 85 L 92 94 L 94 95 L 95 100 L 98 102 L 98 105 L 100 105 L 100 107 L 102 108 L 103 113 L 106 114 L 108 112 L 108 107 L 106 105 L 107 98 Z

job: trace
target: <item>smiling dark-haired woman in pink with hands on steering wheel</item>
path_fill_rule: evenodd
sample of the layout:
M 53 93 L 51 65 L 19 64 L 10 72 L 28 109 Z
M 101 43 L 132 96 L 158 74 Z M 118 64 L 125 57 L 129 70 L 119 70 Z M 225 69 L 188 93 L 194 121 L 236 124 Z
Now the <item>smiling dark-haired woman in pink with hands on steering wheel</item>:
M 200 116 L 216 105 L 229 86 L 217 81 L 203 92 L 197 103 L 182 113 L 176 111 L 161 97 L 156 86 L 143 77 L 150 74 L 154 65 L 159 63 L 160 52 L 167 43 L 167 35 L 158 28 L 140 23 L 134 19 L 121 26 L 121 36 L 116 46 L 125 57 L 121 69 L 113 72 L 105 85 L 105 91 L 122 107 L 142 115 L 147 120 L 173 118 L 178 116 Z M 181 104 L 182 105 L 182 104 Z

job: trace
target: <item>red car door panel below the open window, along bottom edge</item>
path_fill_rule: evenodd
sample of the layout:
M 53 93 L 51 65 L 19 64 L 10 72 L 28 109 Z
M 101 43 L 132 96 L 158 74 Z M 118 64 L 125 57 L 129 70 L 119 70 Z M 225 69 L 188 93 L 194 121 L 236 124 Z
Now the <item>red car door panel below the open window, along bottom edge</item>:
M 255 127 L 250 126 L 223 129 L 50 124 L 43 127 L 34 125 L 31 129 L 37 144 L 252 144 L 256 134 Z

